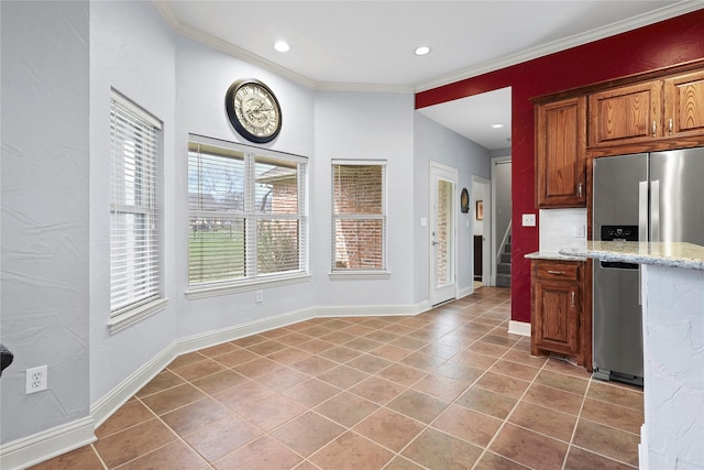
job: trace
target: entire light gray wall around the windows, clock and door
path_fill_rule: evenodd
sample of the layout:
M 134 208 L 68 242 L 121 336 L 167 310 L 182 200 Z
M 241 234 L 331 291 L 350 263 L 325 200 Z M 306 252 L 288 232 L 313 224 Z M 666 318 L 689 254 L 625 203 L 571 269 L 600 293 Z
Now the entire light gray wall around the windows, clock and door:
M 152 2 L 0 4 L 0 340 L 16 353 L 0 380 L 0 442 L 78 420 L 90 428 L 91 409 L 116 404 L 131 378 L 183 339 L 292 310 L 410 313 L 427 305 L 428 233 L 418 221 L 428 217 L 429 162 L 457 167 L 461 188 L 473 174 L 488 177 L 488 160 L 481 146 L 416 113 L 413 94 L 311 90 L 174 33 Z M 248 76 L 267 83 L 284 110 L 282 133 L 265 146 L 310 157 L 311 278 L 266 288 L 261 304 L 252 292 L 188 299 L 188 133 L 242 142 L 223 99 Z M 111 87 L 164 123 L 168 298 L 165 310 L 114 335 L 107 327 Z M 388 162 L 388 278 L 329 276 L 332 159 Z M 459 222 L 465 288 L 472 228 Z M 48 365 L 50 390 L 25 395 L 24 370 L 41 364 Z

